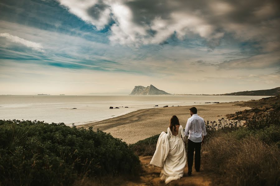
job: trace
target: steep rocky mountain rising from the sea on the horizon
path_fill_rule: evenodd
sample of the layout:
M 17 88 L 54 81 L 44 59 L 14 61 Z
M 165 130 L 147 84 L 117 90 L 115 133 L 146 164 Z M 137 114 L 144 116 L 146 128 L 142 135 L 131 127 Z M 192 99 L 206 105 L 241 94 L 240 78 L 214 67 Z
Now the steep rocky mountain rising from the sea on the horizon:
M 159 90 L 153 85 L 144 87 L 144 86 L 135 86 L 131 91 L 130 95 L 170 95 L 169 93 Z

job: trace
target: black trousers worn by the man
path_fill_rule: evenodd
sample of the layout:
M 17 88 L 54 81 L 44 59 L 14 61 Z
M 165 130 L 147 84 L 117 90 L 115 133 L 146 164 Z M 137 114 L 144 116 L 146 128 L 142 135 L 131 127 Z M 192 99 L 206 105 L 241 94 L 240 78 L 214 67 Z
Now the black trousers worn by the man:
M 200 169 L 200 149 L 201 142 L 193 142 L 192 140 L 187 140 L 187 166 L 188 172 L 192 172 L 192 163 L 193 163 L 193 152 L 195 151 L 194 156 L 194 167 L 196 171 Z

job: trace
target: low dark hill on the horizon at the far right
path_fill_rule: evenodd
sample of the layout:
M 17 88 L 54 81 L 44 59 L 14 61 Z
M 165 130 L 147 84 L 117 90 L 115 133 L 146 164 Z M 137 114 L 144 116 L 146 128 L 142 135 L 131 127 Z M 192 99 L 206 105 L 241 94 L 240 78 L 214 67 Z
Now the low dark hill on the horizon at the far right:
M 259 90 L 259 91 L 243 91 L 243 92 L 233 92 L 221 95 L 279 95 L 280 87 L 268 89 L 268 90 Z

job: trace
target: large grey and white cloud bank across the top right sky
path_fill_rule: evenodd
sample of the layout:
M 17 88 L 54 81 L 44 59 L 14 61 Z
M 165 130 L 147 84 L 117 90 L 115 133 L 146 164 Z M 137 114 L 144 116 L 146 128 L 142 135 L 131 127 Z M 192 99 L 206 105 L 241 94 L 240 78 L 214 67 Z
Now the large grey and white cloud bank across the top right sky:
M 97 29 L 111 24 L 113 43 L 159 44 L 175 35 L 203 38 L 214 49 L 225 33 L 231 33 L 241 41 L 256 39 L 264 51 L 279 48 L 277 42 L 269 44 L 279 39 L 277 1 L 58 1 Z

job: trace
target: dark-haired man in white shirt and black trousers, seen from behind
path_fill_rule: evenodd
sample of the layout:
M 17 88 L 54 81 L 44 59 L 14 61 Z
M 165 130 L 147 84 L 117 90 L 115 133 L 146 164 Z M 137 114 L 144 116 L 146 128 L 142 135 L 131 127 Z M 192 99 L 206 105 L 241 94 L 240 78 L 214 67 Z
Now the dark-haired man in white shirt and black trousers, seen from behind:
M 190 108 L 190 117 L 187 120 L 185 135 L 188 135 L 187 142 L 187 166 L 188 175 L 192 175 L 193 152 L 195 151 L 194 167 L 197 172 L 200 169 L 200 149 L 201 143 L 206 139 L 205 122 L 197 115 L 197 108 Z M 189 133 L 189 134 L 188 134 Z

